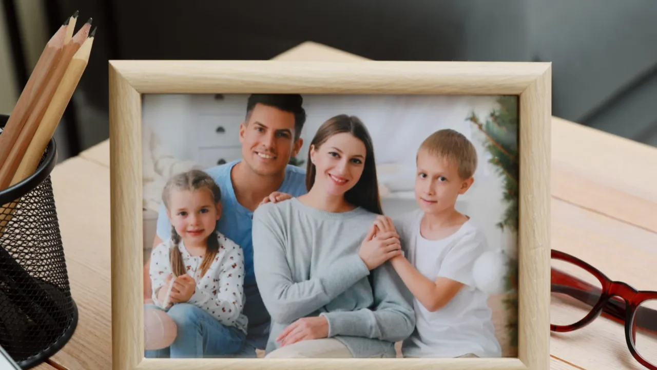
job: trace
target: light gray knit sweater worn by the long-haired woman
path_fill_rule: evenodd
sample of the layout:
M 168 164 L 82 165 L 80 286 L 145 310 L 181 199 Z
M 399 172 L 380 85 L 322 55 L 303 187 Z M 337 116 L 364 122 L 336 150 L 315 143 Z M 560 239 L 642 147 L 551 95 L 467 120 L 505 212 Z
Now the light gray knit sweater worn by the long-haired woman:
M 358 255 L 375 217 L 363 208 L 321 211 L 296 198 L 256 209 L 254 270 L 272 320 L 267 353 L 279 348 L 287 325 L 323 315 L 328 337 L 354 357 L 395 356 L 394 342 L 410 336 L 415 314 L 390 263 L 369 271 Z

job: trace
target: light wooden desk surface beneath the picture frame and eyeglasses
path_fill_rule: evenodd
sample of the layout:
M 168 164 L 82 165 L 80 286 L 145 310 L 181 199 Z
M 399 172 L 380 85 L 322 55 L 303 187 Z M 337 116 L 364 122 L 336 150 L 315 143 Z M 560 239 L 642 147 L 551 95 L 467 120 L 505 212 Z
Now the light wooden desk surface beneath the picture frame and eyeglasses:
M 359 58 L 315 43 L 278 57 Z M 635 288 L 657 290 L 657 149 L 562 119 L 552 123 L 553 248 Z M 64 161 L 52 174 L 79 307 L 74 336 L 49 360 L 64 369 L 111 369 L 108 149 L 108 141 L 102 142 Z M 553 369 L 643 369 L 627 350 L 623 327 L 604 318 L 578 332 L 553 334 L 551 354 Z

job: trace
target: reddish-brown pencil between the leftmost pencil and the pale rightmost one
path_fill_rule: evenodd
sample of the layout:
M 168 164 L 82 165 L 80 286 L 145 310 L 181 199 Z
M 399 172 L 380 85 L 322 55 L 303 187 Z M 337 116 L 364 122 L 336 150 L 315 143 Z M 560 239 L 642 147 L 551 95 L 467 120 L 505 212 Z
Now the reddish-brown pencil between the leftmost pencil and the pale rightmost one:
M 51 99 L 53 99 L 53 94 L 62 80 L 66 68 L 68 68 L 73 55 L 87 39 L 89 28 L 91 28 L 91 18 L 89 18 L 87 23 L 85 23 L 78 33 L 73 36 L 70 43 L 64 46 L 62 57 L 54 68 L 47 84 L 45 84 L 43 93 L 41 93 L 37 101 L 35 101 L 34 107 L 30 110 L 30 116 L 23 125 L 22 130 L 20 130 L 16 142 L 11 147 L 7 159 L 5 159 L 5 162 L 2 164 L 2 168 L 0 168 L 0 190 L 7 188 L 12 178 L 14 178 L 16 169 L 18 169 L 18 165 L 20 165 L 20 161 L 22 161 L 22 158 L 25 155 L 28 144 L 30 144 L 30 141 L 32 141 L 32 138 L 34 137 L 34 132 L 37 130 L 37 126 L 41 122 L 45 110 Z

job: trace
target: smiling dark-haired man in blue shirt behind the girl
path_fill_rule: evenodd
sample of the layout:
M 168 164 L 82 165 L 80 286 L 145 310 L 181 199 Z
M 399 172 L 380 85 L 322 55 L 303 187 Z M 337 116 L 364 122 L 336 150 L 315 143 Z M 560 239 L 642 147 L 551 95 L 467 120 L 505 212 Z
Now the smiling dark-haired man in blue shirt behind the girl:
M 250 95 L 246 117 L 240 124 L 242 158 L 205 170 L 221 189 L 221 217 L 216 230 L 244 251 L 243 313 L 248 318 L 248 335 L 235 357 L 256 357 L 256 348 L 264 349 L 267 344 L 270 317 L 254 277 L 252 217 L 261 201 L 275 192 L 294 197 L 307 192 L 306 171 L 288 164 L 303 145 L 300 136 L 306 111 L 302 103 L 298 94 Z M 171 224 L 162 205 L 153 246 L 170 238 Z M 145 276 L 148 265 L 146 261 Z M 145 279 L 144 284 L 148 300 L 150 280 Z

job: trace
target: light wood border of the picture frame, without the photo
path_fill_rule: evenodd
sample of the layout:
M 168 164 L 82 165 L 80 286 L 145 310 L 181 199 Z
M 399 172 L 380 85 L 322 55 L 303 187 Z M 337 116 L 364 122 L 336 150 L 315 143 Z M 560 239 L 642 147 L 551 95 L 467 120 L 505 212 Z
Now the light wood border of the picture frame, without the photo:
M 110 61 L 112 368 L 549 369 L 551 63 Z M 518 358 L 143 357 L 143 93 L 518 95 Z

